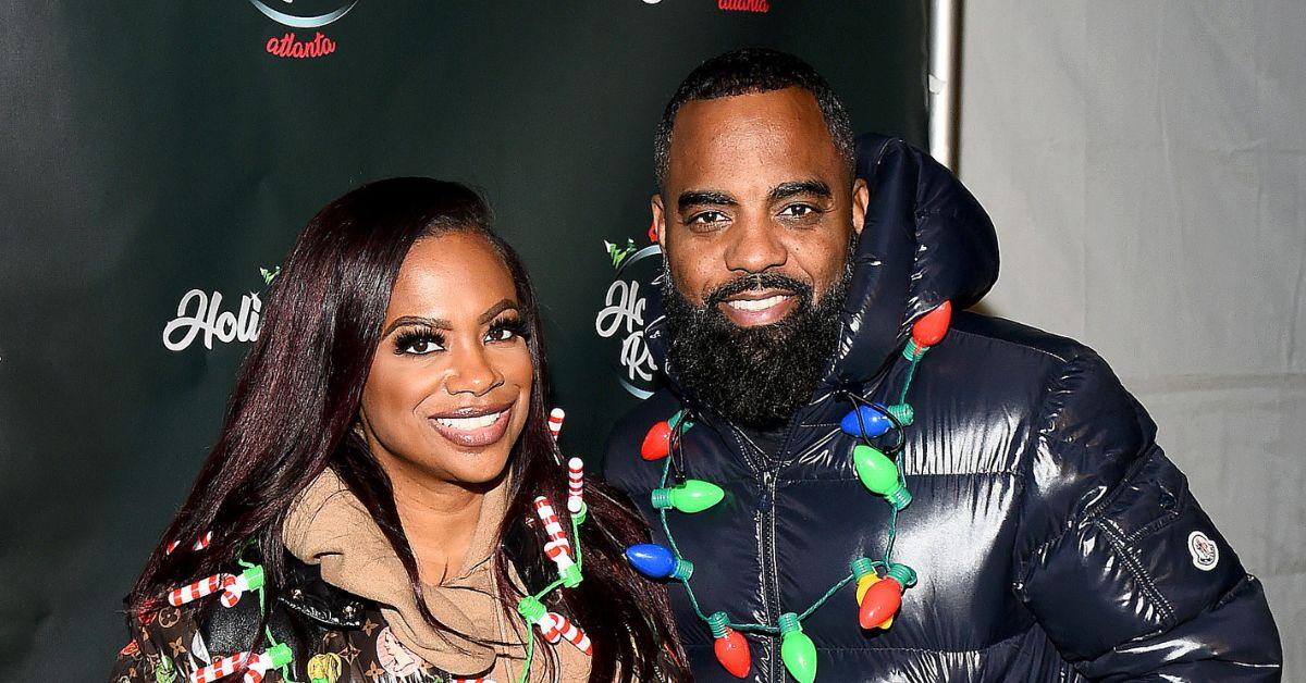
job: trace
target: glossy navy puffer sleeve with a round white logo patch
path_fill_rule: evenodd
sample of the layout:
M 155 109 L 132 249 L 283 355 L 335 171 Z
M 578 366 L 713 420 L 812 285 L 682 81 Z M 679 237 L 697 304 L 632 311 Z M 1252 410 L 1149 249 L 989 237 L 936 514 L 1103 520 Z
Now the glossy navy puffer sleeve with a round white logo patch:
M 1092 351 L 1047 387 L 1030 444 L 1017 596 L 1093 680 L 1279 680 L 1260 582 Z

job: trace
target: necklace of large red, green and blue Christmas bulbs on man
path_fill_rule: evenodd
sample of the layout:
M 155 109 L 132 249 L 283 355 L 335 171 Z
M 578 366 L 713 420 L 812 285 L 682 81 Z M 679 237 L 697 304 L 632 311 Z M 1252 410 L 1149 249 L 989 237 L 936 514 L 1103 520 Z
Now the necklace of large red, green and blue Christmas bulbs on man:
M 670 547 L 658 543 L 640 543 L 628 547 L 626 556 L 644 576 L 679 581 L 684 585 L 693 612 L 712 632 L 717 661 L 731 675 L 744 678 L 752 667 L 748 641 L 741 632 L 778 635 L 781 637 L 780 657 L 785 669 L 799 683 L 812 683 L 816 679 L 816 645 L 810 636 L 803 633 L 802 622 L 852 581 L 857 581 L 858 624 L 865 629 L 887 629 L 893 624 L 893 615 L 901 606 L 902 593 L 917 580 L 914 569 L 906 564 L 892 562 L 893 542 L 897 538 L 897 515 L 912 503 L 912 494 L 904 478 L 904 458 L 901 457 L 906 445 L 902 427 L 912 424 L 914 419 L 914 411 L 906 402 L 906 397 L 912 388 L 912 380 L 916 377 L 917 366 L 926 351 L 938 345 L 947 334 L 951 317 L 952 306 L 943 302 L 912 325 L 912 340 L 902 349 L 902 357 L 910 362 L 910 366 L 897 404 L 885 406 L 853 392 L 844 392 L 846 398 L 853 402 L 853 410 L 840 421 L 840 428 L 861 441 L 853 447 L 853 466 L 862 484 L 872 494 L 884 498 L 885 503 L 889 504 L 888 538 L 883 558 L 871 560 L 861 556 L 853 560 L 848 576 L 836 581 L 829 590 L 802 612 L 781 614 L 774 626 L 731 622 L 725 611 L 704 614 L 693 594 L 693 588 L 690 585 L 693 563 L 682 555 L 666 516 L 669 509 L 687 515 L 705 511 L 720 503 L 725 498 L 725 491 L 712 482 L 684 477 L 682 440 L 684 432 L 693 426 L 692 417 L 686 411 L 678 411 L 667 421 L 656 423 L 645 435 L 640 445 L 640 456 L 649 461 L 666 460 L 658 487 L 650 494 L 650 501 L 653 508 L 658 511 L 662 532 L 666 534 Z M 897 435 L 895 443 L 883 451 L 876 448 L 874 440 L 891 431 Z M 675 483 L 667 486 L 673 464 L 677 464 Z

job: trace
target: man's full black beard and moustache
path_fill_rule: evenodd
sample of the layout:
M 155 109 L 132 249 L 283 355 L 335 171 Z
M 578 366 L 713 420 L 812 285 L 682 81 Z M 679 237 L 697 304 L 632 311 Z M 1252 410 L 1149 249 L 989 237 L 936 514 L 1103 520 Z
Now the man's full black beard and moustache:
M 807 404 L 829 366 L 853 279 L 853 252 L 850 246 L 842 276 L 815 304 L 811 285 L 759 273 L 721 285 L 697 307 L 675 287 L 663 260 L 667 357 L 677 380 L 690 396 L 737 424 L 782 426 Z M 760 289 L 789 290 L 798 304 L 780 321 L 755 328 L 735 325 L 718 308 L 727 296 Z

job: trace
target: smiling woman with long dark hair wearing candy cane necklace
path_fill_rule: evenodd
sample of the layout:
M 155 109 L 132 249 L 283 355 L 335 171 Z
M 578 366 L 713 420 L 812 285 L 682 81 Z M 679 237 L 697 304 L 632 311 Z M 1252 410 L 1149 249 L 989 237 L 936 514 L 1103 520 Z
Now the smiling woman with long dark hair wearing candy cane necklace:
M 128 597 L 112 680 L 687 679 L 665 593 L 623 558 L 644 525 L 594 482 L 567 515 L 539 332 L 466 187 L 323 209 Z

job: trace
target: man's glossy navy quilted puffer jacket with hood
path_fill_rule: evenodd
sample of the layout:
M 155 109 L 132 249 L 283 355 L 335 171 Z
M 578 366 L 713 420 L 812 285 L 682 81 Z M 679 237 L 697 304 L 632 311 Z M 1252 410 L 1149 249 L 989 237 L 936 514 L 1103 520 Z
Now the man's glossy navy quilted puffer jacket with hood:
M 704 614 L 776 624 L 882 558 L 889 505 L 862 486 L 840 419 L 844 392 L 896 402 L 914 320 L 974 304 L 998 274 L 993 225 L 942 166 L 900 140 L 858 140 L 871 206 L 828 375 L 778 453 L 667 388 L 618 424 L 606 477 L 663 534 L 650 504 L 663 461 L 644 461 L 649 427 L 687 409 L 690 478 L 725 490 L 696 515 L 669 512 Z M 650 310 L 656 310 L 656 302 Z M 665 319 L 645 336 L 665 366 Z M 1083 345 L 970 312 L 921 360 L 902 468 L 913 500 L 892 559 L 916 569 L 891 628 L 858 626 L 848 584 L 802 628 L 818 682 L 1279 680 L 1280 641 L 1249 575 L 1155 441 L 1156 427 Z M 683 586 L 671 586 L 695 675 L 738 680 Z M 746 680 L 791 680 L 774 635 L 747 636 Z

